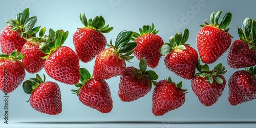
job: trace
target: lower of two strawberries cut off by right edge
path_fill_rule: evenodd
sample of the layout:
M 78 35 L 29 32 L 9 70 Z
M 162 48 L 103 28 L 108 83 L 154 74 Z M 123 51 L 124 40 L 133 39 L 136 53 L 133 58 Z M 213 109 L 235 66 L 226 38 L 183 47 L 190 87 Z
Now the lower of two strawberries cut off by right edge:
M 228 101 L 238 105 L 256 99 L 256 68 L 234 72 L 228 79 Z

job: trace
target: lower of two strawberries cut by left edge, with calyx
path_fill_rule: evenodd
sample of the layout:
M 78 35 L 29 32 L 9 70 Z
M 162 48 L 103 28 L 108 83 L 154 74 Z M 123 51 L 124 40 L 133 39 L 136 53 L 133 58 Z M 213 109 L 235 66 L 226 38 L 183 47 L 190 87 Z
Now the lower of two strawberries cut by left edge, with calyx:
M 13 92 L 25 78 L 25 69 L 18 59 L 24 58 L 23 54 L 17 56 L 17 50 L 11 55 L 0 54 L 0 90 L 4 93 Z

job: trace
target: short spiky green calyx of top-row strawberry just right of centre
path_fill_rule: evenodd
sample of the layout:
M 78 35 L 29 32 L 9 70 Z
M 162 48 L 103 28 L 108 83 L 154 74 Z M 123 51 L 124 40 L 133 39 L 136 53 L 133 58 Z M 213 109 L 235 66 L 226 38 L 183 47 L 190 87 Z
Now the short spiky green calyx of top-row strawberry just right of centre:
M 155 29 L 155 25 L 152 23 L 152 26 L 150 25 L 143 25 L 142 29 L 139 28 L 140 33 L 134 32 L 132 40 L 136 40 L 136 38 L 140 37 L 141 35 L 146 35 L 146 34 L 157 34 L 159 30 L 157 31 Z

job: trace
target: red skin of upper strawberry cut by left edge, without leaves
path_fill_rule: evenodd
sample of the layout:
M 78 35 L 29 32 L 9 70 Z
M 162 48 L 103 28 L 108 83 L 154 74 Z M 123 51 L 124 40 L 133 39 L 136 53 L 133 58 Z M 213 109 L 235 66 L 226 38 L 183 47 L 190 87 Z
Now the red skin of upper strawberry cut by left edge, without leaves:
M 20 37 L 19 32 L 11 31 L 11 26 L 6 26 L 0 34 L 1 51 L 9 55 L 14 50 L 17 50 L 19 54 L 26 42 L 23 37 Z

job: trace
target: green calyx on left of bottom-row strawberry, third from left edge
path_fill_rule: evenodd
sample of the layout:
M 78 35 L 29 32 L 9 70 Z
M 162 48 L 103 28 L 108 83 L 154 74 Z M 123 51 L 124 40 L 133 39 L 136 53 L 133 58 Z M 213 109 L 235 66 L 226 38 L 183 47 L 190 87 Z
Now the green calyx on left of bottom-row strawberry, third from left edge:
M 91 79 L 93 76 L 91 76 L 90 72 L 85 68 L 80 68 L 80 82 L 77 84 L 74 84 L 75 87 L 77 87 L 77 90 L 72 89 L 71 91 L 74 92 L 72 94 L 79 95 L 80 89 Z

